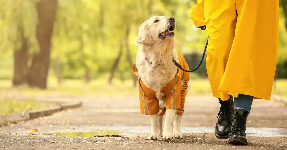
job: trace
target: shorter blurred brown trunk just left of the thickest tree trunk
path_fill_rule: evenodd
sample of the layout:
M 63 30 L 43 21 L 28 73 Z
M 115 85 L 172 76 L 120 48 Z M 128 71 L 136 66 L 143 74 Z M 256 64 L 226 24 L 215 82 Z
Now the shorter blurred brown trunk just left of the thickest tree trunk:
M 14 77 L 13 86 L 19 86 L 26 83 L 28 73 L 28 39 L 24 37 L 24 31 L 21 32 L 21 49 L 14 50 Z

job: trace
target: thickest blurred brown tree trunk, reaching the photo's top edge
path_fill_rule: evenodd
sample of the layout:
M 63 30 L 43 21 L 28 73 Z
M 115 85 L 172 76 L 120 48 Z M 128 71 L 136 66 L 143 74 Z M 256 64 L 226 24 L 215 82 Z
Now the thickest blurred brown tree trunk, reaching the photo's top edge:
M 47 88 L 50 65 L 50 47 L 57 10 L 57 0 L 40 0 L 37 3 L 38 25 L 37 39 L 40 46 L 33 55 L 32 65 L 28 71 L 27 83 L 30 87 Z

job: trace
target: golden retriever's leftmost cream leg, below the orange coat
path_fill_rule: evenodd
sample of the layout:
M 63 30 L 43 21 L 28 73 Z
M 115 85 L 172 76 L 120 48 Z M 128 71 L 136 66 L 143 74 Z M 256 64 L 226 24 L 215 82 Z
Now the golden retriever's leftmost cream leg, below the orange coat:
M 160 140 L 161 134 L 160 134 L 160 116 L 158 114 L 150 115 L 150 123 L 152 125 L 152 132 L 150 133 L 150 136 L 148 136 L 149 140 Z

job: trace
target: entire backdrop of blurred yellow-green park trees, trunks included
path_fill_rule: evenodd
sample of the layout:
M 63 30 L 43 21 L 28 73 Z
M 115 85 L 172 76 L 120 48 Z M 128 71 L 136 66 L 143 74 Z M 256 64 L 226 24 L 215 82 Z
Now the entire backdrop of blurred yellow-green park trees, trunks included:
M 194 0 L 7 0 L 0 1 L 0 79 L 13 86 L 47 88 L 48 79 L 113 79 L 131 72 L 138 27 L 153 15 L 177 21 L 176 51 L 190 68 L 201 59 L 206 31 L 189 17 Z M 278 78 L 287 78 L 287 1 L 280 0 Z M 205 63 L 191 77 L 207 77 Z

